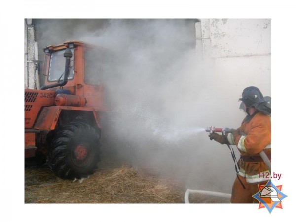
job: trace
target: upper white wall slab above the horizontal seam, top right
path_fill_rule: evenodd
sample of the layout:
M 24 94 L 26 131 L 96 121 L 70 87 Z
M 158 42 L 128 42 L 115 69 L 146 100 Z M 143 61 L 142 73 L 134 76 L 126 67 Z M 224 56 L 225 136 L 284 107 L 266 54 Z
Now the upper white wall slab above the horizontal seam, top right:
M 270 55 L 270 24 L 270 19 L 210 19 L 212 56 Z

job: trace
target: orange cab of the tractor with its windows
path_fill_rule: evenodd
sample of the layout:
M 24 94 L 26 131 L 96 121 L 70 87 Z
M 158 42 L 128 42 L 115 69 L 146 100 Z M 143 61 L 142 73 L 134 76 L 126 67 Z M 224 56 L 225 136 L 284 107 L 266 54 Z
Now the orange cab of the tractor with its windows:
M 86 98 L 85 106 L 102 107 L 103 83 L 113 72 L 108 50 L 81 41 L 67 41 L 47 46 L 44 52 L 46 79 L 42 90 L 81 96 Z

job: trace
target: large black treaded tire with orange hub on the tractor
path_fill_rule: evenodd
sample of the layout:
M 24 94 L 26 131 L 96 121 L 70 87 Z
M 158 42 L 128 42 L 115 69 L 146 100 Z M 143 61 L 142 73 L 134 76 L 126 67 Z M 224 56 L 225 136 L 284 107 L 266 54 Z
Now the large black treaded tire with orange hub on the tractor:
M 58 130 L 48 150 L 47 163 L 62 179 L 81 179 L 92 174 L 100 161 L 100 137 L 83 122 L 72 122 Z

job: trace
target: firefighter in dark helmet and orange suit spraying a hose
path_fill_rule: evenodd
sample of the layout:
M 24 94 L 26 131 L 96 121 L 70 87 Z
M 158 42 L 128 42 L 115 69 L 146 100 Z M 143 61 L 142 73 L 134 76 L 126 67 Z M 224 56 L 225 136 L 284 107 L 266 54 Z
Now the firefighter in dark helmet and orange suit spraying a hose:
M 230 202 L 258 203 L 252 195 L 259 191 L 258 184 L 267 183 L 271 173 L 259 155 L 263 151 L 271 160 L 271 106 L 254 86 L 245 88 L 239 100 L 247 113 L 241 126 L 232 133 L 220 135 L 214 132 L 209 137 L 221 144 L 236 145 L 241 154 Z

